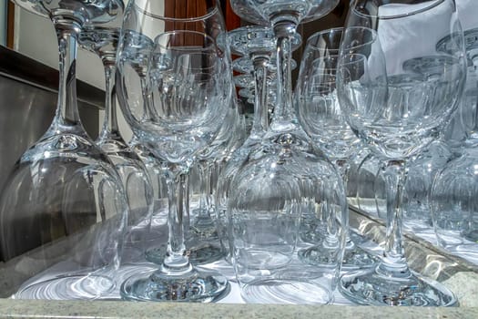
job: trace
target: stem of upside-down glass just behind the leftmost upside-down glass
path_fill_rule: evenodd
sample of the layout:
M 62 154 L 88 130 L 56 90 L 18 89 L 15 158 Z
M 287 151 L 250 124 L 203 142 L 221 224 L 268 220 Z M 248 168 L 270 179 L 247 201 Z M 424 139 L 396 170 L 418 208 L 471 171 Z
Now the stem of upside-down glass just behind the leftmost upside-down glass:
M 104 64 L 105 67 L 105 121 L 103 129 L 99 135 L 99 140 L 108 138 L 120 138 L 119 127 L 117 125 L 117 100 L 115 85 L 115 65 L 111 63 Z

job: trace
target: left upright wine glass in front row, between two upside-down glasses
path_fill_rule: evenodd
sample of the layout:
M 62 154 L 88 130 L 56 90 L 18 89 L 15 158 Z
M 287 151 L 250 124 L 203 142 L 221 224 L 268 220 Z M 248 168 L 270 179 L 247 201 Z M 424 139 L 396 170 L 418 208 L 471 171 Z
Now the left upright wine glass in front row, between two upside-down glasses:
M 217 36 L 222 30 L 219 6 L 203 9 L 203 15 L 186 21 L 168 18 L 154 1 L 132 1 L 127 7 L 124 34 L 133 30 L 155 38 L 148 61 L 148 114 L 145 116 L 144 105 L 136 108 L 128 103 L 141 86 L 130 78 L 135 71 L 123 55 L 127 47 L 121 40 L 119 100 L 137 138 L 168 166 L 169 238 L 167 254 L 158 270 L 137 273 L 122 284 L 120 292 L 125 299 L 210 302 L 228 291 L 223 276 L 192 266 L 184 253 L 188 170 L 195 155 L 218 134 L 231 97 L 229 61 L 215 37 L 209 36 Z

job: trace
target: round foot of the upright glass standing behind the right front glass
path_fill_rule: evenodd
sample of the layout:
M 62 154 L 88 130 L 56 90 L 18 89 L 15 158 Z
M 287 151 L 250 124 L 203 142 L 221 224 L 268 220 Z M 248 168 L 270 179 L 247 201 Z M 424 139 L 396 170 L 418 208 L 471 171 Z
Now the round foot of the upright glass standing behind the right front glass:
M 337 261 L 337 257 L 331 255 L 330 250 L 322 246 L 312 246 L 298 252 L 300 261 L 311 265 L 327 265 Z M 378 256 L 362 250 L 357 245 L 346 248 L 341 262 L 342 269 L 357 269 L 372 267 L 379 262 Z

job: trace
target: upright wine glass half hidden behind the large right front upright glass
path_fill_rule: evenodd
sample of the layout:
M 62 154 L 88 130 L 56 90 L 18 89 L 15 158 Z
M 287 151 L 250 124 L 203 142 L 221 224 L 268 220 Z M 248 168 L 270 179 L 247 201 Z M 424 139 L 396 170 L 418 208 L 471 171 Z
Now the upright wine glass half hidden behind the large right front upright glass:
M 302 128 L 335 164 L 347 189 L 351 157 L 362 146 L 341 115 L 337 99 L 335 80 L 342 33 L 343 28 L 332 28 L 307 39 L 294 94 Z M 320 225 L 320 219 L 313 214 L 303 214 L 301 223 L 301 239 L 319 244 L 301 249 L 300 258 L 312 264 L 326 263 L 328 256 L 323 251 L 327 247 L 321 244 L 324 238 L 320 228 L 324 226 Z M 375 262 L 376 256 L 362 250 L 351 236 L 347 236 L 342 269 L 371 266 Z

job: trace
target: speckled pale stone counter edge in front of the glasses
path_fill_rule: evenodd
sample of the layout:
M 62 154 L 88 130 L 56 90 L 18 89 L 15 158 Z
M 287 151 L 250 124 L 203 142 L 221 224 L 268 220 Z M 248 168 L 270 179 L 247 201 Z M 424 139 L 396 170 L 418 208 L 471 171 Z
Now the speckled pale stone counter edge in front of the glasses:
M 285 304 L 156 304 L 0 299 L 1 318 L 478 318 L 476 307 L 369 307 Z

